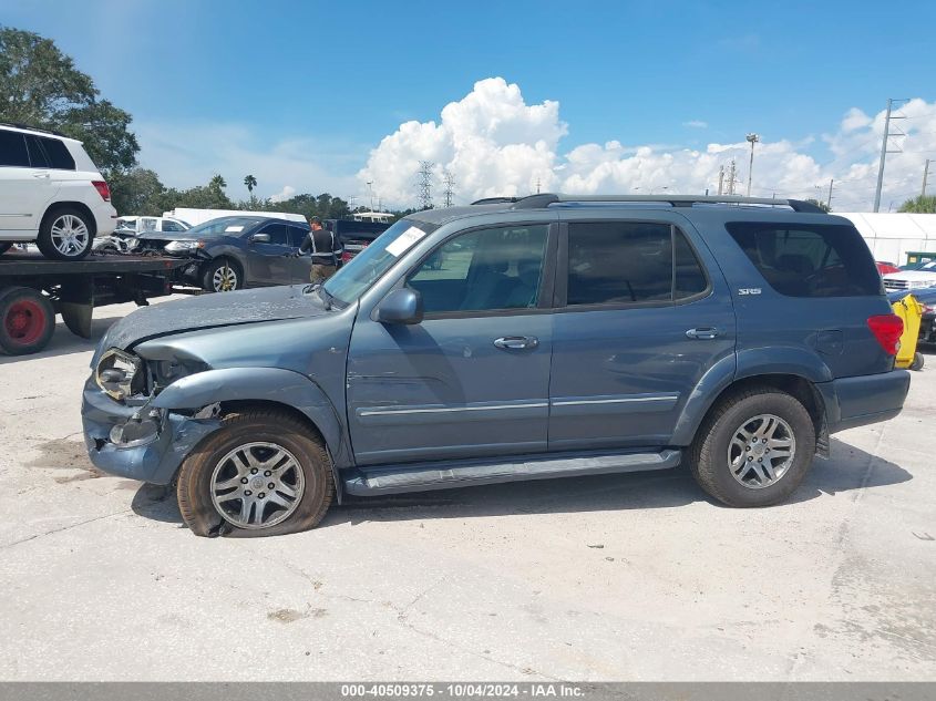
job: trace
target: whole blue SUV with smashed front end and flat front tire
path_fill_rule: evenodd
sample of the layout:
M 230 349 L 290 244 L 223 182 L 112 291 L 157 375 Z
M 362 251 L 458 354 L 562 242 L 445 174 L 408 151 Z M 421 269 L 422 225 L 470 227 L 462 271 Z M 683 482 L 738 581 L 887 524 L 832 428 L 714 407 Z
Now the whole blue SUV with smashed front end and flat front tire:
M 847 219 L 594 199 L 418 212 L 322 286 L 133 312 L 84 386 L 91 461 L 177 484 L 202 536 L 309 528 L 348 494 L 680 464 L 767 506 L 831 433 L 899 413 L 902 322 Z

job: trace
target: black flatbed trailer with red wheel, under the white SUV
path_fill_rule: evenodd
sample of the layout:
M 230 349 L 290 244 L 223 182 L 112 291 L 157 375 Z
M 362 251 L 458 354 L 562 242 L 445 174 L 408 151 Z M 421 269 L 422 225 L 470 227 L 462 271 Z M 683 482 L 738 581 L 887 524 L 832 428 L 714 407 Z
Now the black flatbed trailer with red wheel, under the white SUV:
M 173 292 L 178 258 L 92 255 L 83 260 L 50 260 L 29 252 L 0 257 L 0 352 L 41 351 L 61 315 L 69 330 L 91 338 L 95 307 L 136 302 Z

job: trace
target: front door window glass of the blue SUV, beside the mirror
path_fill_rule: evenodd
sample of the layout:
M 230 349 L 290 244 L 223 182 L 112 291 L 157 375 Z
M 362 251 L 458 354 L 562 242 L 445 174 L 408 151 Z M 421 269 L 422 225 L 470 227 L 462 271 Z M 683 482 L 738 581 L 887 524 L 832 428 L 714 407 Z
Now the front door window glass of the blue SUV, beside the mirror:
M 409 285 L 426 312 L 536 307 L 547 231 L 542 225 L 464 234 L 436 248 Z

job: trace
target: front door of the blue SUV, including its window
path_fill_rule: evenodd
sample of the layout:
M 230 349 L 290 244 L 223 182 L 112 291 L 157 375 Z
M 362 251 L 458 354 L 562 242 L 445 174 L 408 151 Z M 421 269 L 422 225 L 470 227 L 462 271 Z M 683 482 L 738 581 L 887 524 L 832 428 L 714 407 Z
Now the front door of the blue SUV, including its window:
M 450 238 L 404 281 L 422 295 L 421 323 L 358 317 L 348 360 L 358 464 L 546 451 L 549 228 Z

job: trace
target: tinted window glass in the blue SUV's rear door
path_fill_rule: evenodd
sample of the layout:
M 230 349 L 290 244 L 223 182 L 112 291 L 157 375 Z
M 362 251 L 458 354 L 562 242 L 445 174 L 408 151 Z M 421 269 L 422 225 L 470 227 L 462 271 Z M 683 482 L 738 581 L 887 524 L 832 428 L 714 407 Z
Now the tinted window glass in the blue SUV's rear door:
M 708 289 L 685 235 L 669 224 L 600 221 L 568 227 L 567 305 L 675 302 Z

